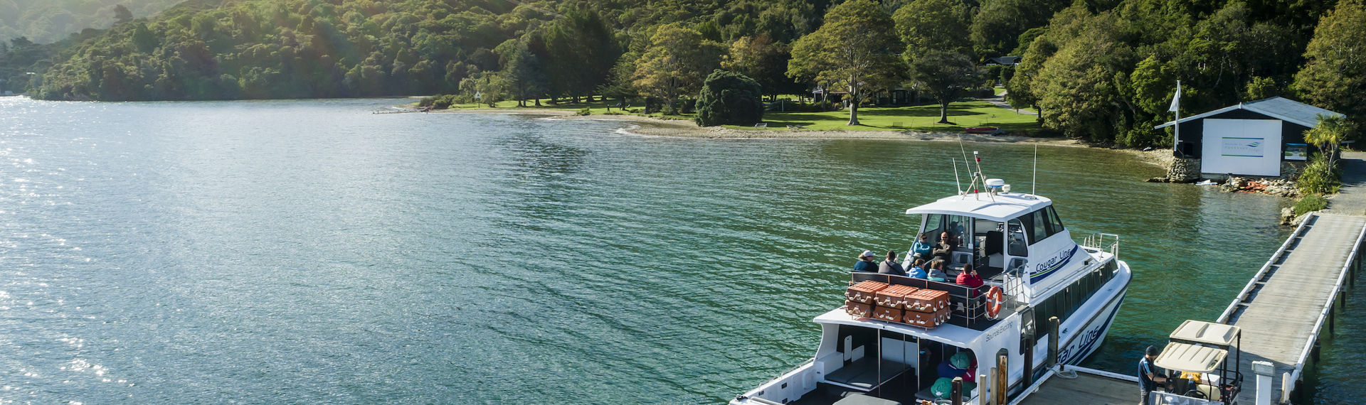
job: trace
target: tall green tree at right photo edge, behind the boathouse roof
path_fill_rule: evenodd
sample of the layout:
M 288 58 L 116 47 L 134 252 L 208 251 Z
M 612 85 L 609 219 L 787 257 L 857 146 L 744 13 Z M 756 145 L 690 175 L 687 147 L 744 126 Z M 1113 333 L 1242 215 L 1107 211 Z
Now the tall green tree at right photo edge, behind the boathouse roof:
M 1295 90 L 1306 101 L 1344 113 L 1361 125 L 1366 117 L 1366 8 L 1344 0 L 1318 20 L 1305 50 L 1309 60 L 1295 75 Z

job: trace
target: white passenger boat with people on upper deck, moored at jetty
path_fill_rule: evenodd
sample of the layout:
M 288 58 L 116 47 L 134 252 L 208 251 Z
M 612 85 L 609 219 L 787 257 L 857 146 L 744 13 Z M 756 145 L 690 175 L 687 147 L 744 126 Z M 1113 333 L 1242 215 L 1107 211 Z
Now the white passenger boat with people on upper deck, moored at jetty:
M 1078 244 L 1050 199 L 1009 192 L 997 179 L 982 183 L 988 192 L 962 192 L 906 213 L 919 217 L 919 233 L 932 243 L 945 230 L 959 236 L 949 269 L 970 263 L 986 285 L 851 273 L 851 285 L 873 280 L 948 292 L 947 323 L 918 327 L 850 315 L 850 305 L 831 310 L 816 316 L 821 344 L 813 359 L 731 404 L 948 404 L 932 386 L 941 378 L 940 364 L 958 353 L 975 360 L 970 379 L 977 385 L 964 386 L 963 402 L 988 404 L 982 400 L 1019 395 L 1049 368 L 1050 330 L 1057 331 L 1057 363 L 1090 356 L 1105 340 L 1132 278 L 1119 260 L 1119 236 L 1097 233 Z M 831 301 L 837 301 L 833 295 Z

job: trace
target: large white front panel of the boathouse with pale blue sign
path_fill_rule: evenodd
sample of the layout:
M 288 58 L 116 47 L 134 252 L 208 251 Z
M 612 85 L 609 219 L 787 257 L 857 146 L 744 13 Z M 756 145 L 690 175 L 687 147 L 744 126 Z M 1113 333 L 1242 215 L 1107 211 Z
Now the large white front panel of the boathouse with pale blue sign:
M 1280 176 L 1281 120 L 1205 119 L 1201 173 Z

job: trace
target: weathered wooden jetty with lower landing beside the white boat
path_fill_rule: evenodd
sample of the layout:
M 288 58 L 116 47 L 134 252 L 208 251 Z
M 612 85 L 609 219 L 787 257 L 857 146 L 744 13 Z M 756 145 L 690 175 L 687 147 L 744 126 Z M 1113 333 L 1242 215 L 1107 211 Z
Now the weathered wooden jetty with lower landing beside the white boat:
M 1366 217 L 1311 213 L 1247 282 L 1218 316 L 1218 323 L 1242 327 L 1243 391 L 1238 404 L 1257 404 L 1253 361 L 1274 365 L 1272 404 L 1291 402 L 1317 357 L 1324 327 L 1333 333 L 1333 305 L 1346 305 L 1343 290 L 1362 269 Z M 1232 356 L 1232 355 L 1231 355 Z M 1137 359 L 1135 359 L 1137 361 Z M 1076 378 L 1048 371 L 1011 405 L 1134 404 L 1138 378 L 1082 367 L 1067 367 Z M 1065 372 L 1064 372 L 1065 374 Z

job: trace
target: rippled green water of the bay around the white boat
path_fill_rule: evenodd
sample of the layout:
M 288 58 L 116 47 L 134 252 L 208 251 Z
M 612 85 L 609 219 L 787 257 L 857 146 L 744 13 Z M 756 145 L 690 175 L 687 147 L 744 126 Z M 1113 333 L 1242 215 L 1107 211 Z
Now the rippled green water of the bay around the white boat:
M 814 352 L 852 256 L 904 250 L 959 155 L 393 102 L 0 98 L 0 400 L 717 404 Z M 1033 147 L 968 147 L 1027 190 Z M 1217 316 L 1288 233 L 1280 198 L 1038 157 L 1137 274 L 1091 367 Z M 1333 363 L 1361 355 L 1325 356 L 1324 402 L 1361 394 Z

